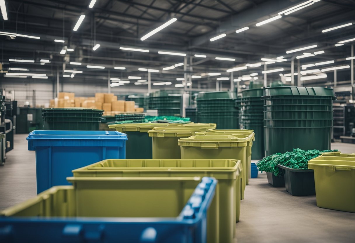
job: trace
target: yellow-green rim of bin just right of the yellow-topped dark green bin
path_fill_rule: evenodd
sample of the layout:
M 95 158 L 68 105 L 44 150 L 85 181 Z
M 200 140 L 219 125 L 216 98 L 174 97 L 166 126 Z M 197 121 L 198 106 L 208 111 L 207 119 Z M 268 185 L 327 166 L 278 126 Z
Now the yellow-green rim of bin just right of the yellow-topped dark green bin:
M 197 128 L 197 127 L 157 127 L 148 131 L 149 137 L 189 137 L 195 135 L 197 132 L 213 129 L 211 127 Z

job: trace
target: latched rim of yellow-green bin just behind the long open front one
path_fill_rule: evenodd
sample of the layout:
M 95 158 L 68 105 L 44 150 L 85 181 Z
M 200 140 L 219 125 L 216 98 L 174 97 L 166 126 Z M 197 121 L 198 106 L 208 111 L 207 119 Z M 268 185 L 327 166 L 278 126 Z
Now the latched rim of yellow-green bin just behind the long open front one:
M 178 145 L 202 148 L 246 147 L 251 141 L 250 136 L 241 135 L 195 135 L 179 139 Z

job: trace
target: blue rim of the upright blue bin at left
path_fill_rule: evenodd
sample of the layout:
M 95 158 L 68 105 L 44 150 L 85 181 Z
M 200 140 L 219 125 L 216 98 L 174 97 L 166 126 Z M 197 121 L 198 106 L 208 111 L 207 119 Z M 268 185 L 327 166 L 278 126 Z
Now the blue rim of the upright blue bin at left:
M 119 131 L 57 131 L 57 130 L 34 130 L 27 140 L 33 139 L 123 139 L 127 135 Z

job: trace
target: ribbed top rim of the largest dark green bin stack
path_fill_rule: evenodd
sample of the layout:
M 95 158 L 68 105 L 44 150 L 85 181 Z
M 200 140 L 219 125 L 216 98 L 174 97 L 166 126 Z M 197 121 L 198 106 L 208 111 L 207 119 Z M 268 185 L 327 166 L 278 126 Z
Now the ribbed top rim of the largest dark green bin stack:
M 329 96 L 336 99 L 332 88 L 322 87 L 268 87 L 264 88 L 264 94 L 261 99 L 271 98 L 270 96 Z

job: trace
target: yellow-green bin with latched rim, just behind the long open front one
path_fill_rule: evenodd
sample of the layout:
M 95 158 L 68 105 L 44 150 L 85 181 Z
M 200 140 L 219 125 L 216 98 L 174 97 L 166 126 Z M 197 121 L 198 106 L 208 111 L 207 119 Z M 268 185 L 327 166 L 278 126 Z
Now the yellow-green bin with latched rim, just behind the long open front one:
M 239 138 L 234 135 L 195 135 L 179 139 L 181 159 L 229 159 L 240 160 L 246 168 L 246 148 L 250 136 Z M 240 199 L 244 200 L 245 171 L 240 177 Z

